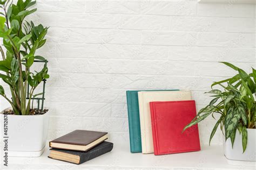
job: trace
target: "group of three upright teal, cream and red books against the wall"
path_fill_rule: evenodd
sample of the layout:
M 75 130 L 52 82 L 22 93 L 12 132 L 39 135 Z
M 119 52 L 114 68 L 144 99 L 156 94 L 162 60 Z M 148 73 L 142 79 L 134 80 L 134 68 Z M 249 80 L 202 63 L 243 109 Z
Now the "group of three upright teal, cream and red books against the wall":
M 130 151 L 155 155 L 200 150 L 198 126 L 183 132 L 196 116 L 189 90 L 126 91 Z

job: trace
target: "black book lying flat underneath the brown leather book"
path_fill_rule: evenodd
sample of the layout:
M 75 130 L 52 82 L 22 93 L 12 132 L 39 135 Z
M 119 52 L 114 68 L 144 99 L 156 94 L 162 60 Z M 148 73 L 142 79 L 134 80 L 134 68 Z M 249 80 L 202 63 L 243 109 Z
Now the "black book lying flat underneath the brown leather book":
M 73 164 L 79 165 L 104 153 L 110 152 L 112 148 L 113 143 L 110 143 L 108 141 L 103 141 L 103 143 L 91 148 L 91 150 L 86 152 L 51 148 L 49 158 L 71 162 Z

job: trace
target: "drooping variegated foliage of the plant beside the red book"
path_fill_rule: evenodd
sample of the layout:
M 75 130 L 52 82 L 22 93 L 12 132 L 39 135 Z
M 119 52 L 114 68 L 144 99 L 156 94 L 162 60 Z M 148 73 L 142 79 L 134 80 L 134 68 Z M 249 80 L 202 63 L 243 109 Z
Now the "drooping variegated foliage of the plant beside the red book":
M 247 74 L 231 63 L 222 63 L 236 70 L 238 74 L 230 79 L 212 84 L 212 90 L 206 93 L 212 94 L 213 100 L 198 112 L 197 116 L 185 126 L 184 130 L 203 121 L 210 115 L 214 118 L 214 114 L 219 114 L 219 119 L 211 132 L 209 144 L 220 125 L 226 140 L 231 138 L 232 146 L 237 130 L 240 134 L 242 133 L 242 148 L 245 152 L 247 129 L 255 129 L 256 124 L 256 102 L 253 96 L 256 90 L 256 70 L 252 68 L 252 73 Z M 219 85 L 221 90 L 213 89 L 216 85 Z

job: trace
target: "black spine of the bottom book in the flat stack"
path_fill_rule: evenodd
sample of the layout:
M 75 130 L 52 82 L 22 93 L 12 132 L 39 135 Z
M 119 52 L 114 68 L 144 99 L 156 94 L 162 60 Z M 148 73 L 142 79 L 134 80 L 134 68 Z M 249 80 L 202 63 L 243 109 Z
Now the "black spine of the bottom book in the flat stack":
M 85 154 L 79 155 L 80 161 L 79 164 L 83 164 L 86 161 L 89 161 L 93 158 L 99 157 L 107 152 L 110 152 L 113 149 L 113 144 L 105 145 L 103 147 L 98 148 L 97 150 L 87 151 Z

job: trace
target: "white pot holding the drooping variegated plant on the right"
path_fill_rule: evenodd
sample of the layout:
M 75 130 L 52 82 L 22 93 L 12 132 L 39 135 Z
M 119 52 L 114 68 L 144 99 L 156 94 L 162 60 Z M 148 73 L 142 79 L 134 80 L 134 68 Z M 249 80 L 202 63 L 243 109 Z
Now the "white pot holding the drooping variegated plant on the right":
M 240 134 L 238 130 L 235 134 L 233 148 L 231 139 L 228 138 L 225 142 L 224 137 L 224 154 L 227 159 L 239 161 L 256 161 L 256 129 L 247 129 L 247 133 L 247 147 L 244 153 L 242 153 L 242 134 Z

